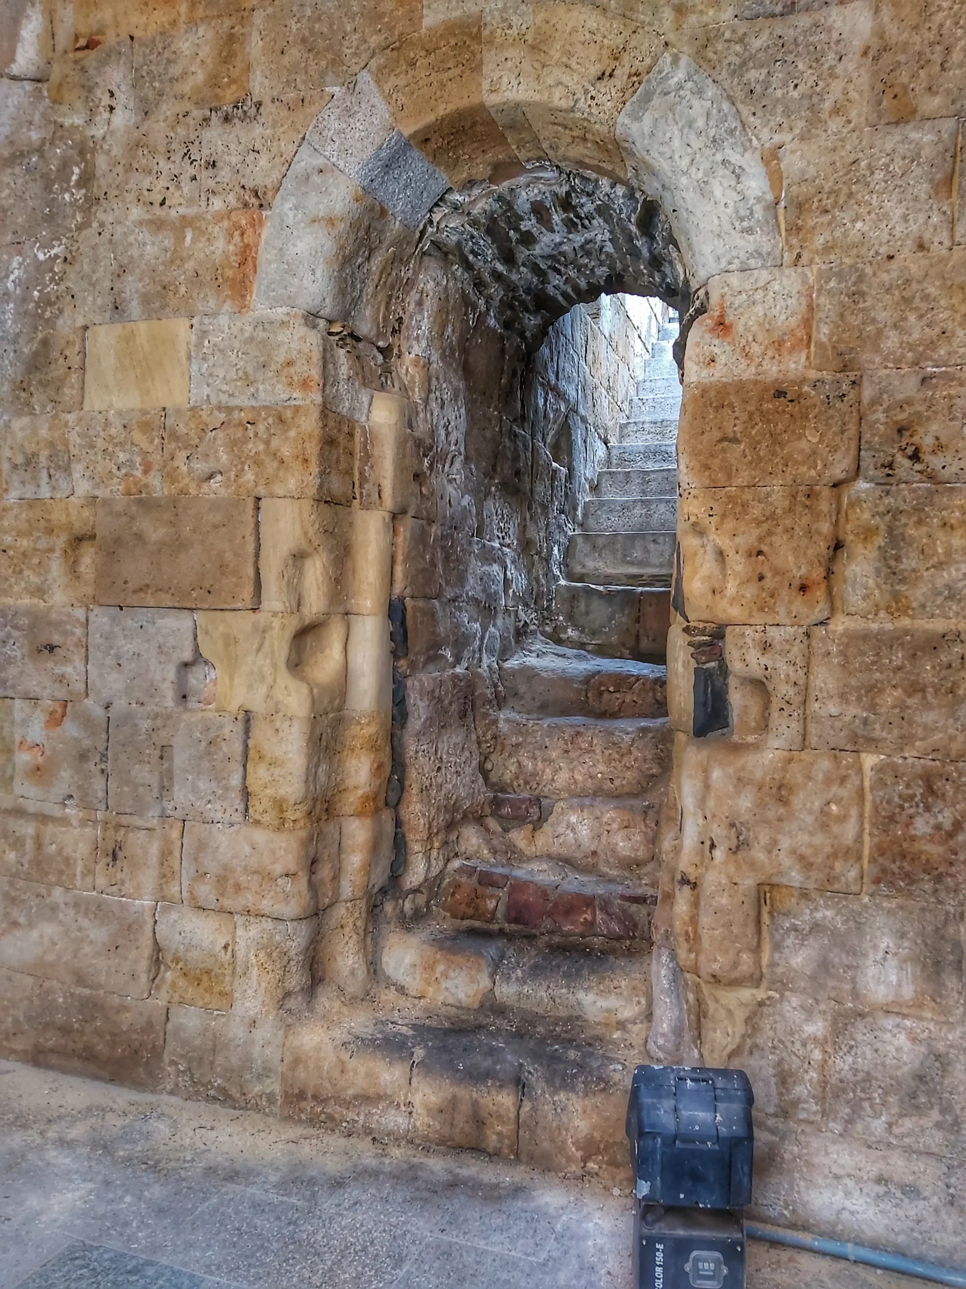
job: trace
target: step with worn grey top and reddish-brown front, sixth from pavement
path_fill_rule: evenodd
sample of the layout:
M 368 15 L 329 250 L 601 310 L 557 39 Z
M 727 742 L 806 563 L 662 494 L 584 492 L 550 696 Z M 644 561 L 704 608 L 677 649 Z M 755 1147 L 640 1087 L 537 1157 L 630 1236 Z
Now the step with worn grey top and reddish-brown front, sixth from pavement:
M 504 708 L 549 717 L 666 717 L 662 666 L 594 657 L 537 637 L 500 665 Z

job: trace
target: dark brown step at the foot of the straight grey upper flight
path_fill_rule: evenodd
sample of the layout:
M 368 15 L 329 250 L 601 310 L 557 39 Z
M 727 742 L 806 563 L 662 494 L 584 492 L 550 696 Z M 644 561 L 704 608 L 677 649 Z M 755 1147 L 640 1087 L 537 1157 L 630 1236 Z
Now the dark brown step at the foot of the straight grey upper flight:
M 671 592 L 665 588 L 562 581 L 554 590 L 553 617 L 546 630 L 558 644 L 609 657 L 663 660 L 670 615 Z

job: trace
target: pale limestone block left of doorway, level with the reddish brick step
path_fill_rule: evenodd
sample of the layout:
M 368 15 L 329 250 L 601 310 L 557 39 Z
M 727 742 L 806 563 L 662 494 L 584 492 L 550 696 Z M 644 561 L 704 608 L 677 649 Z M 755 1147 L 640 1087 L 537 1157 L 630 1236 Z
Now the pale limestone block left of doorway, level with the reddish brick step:
M 316 911 L 310 829 L 185 824 L 182 897 L 197 909 L 299 919 Z

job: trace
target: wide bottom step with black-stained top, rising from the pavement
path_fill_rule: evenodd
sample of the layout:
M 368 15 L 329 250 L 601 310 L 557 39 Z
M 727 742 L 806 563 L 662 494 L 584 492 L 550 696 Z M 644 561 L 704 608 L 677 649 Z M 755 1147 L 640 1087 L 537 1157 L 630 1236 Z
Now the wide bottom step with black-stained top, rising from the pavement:
M 589 1043 L 323 1016 L 286 1029 L 279 1110 L 626 1187 L 632 1070 Z

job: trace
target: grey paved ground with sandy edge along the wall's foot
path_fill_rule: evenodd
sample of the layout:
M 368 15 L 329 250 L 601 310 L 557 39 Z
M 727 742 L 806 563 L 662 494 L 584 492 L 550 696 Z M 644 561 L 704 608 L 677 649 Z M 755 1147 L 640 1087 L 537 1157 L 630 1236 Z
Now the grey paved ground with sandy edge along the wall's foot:
M 630 1203 L 0 1061 L 0 1286 L 630 1289 Z M 748 1289 L 921 1281 L 752 1245 Z

